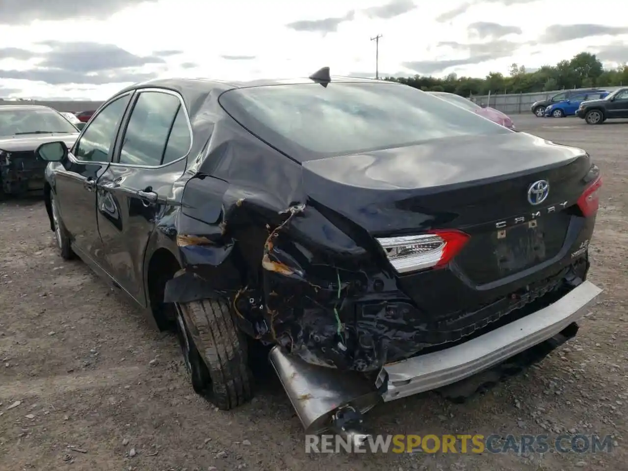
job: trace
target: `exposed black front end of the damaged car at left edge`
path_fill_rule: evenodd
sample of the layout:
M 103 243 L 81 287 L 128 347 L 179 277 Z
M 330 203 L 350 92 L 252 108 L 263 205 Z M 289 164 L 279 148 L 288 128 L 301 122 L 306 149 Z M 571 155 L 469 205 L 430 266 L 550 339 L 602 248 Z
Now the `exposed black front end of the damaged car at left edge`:
M 47 164 L 36 158 L 34 151 L 0 150 L 0 184 L 4 194 L 42 190 Z

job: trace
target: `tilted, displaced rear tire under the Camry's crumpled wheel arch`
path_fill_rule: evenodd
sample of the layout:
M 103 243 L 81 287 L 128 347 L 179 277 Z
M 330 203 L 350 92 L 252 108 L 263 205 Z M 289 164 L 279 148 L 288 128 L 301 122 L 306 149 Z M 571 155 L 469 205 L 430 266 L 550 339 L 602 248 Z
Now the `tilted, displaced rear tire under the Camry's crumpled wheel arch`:
M 229 303 L 201 300 L 179 307 L 183 317 L 179 328 L 185 328 L 184 340 L 189 340 L 186 365 L 194 390 L 224 411 L 250 401 L 253 377 L 247 338 L 236 327 Z

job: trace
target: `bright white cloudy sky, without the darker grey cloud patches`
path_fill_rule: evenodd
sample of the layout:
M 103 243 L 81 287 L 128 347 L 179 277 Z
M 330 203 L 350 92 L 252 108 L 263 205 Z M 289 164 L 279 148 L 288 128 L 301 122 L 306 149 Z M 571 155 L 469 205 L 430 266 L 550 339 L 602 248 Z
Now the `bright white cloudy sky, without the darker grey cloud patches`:
M 0 77 L 5 77 L 0 78 L 0 97 L 5 89 L 13 92 L 21 90 L 12 93 L 21 97 L 105 99 L 126 85 L 121 82 L 102 83 L 106 82 L 103 79 L 101 83 L 90 84 L 89 78 L 85 79 L 87 72 L 80 72 L 80 64 L 74 64 L 78 72 L 68 77 L 73 81 L 85 80 L 84 84 L 60 84 L 63 70 L 56 71 L 54 83 L 33 81 L 35 78 L 48 80 L 47 75 L 23 73 L 38 64 L 42 65 L 42 57 L 46 60 L 46 55 L 51 53 L 50 47 L 41 45 L 43 41 L 111 43 L 136 56 L 157 55 L 163 60 L 161 63 L 149 61 L 138 68 L 107 68 L 107 77 L 116 76 L 116 80 L 129 80 L 138 73 L 248 80 L 306 76 L 325 65 L 338 75 L 356 72 L 374 75 L 375 41 L 370 38 L 377 34 L 383 35 L 379 42 L 381 73 L 429 73 L 429 70 L 416 70 L 416 67 L 413 70 L 408 65 L 419 63 L 421 67 L 426 67 L 425 64 L 430 62 L 442 64 L 452 61 L 457 65 L 438 70 L 434 75 L 456 72 L 476 77 L 483 77 L 492 71 L 507 73 L 512 62 L 529 68 L 554 64 L 582 50 L 595 52 L 614 41 L 628 38 L 607 35 L 560 44 L 530 44 L 531 41 L 539 41 L 552 24 L 625 26 L 622 15 L 607 14 L 598 21 L 590 19 L 595 18 L 595 15 L 590 15 L 587 21 L 583 21 L 582 10 L 566 0 L 443 0 L 429 6 L 415 0 L 416 8 L 412 8 L 410 0 L 388 3 L 394 5 L 381 8 L 386 6 L 386 0 L 231 0 L 211 3 L 203 0 L 160 0 L 139 5 L 134 3 L 109 18 L 81 19 L 79 22 L 75 19 L 45 21 L 39 16 L 40 19 L 31 24 L 0 25 L 0 36 L 5 38 L 0 47 Z M 612 0 L 595 3 L 596 11 L 610 12 L 616 7 L 617 3 Z M 448 14 L 456 9 L 454 13 L 460 13 L 457 16 Z M 438 21 L 439 16 L 452 19 Z M 480 22 L 483 31 L 492 31 L 482 36 L 485 39 L 479 37 L 477 28 L 469 29 L 470 25 Z M 491 30 L 486 23 L 514 27 L 510 31 L 521 28 L 521 34 L 510 33 L 497 39 L 496 34 L 509 30 Z M 288 26 L 290 24 L 293 24 L 292 28 Z M 317 28 L 327 28 L 328 32 L 317 31 Z M 490 47 L 485 46 L 491 41 L 502 41 L 502 46 L 506 44 L 504 41 L 516 44 L 506 45 L 504 53 L 491 55 Z M 439 46 L 439 43 L 472 43 L 474 46 L 472 50 L 464 50 Z M 3 48 L 12 48 L 13 55 L 9 50 L 3 54 Z M 20 59 L 14 54 L 15 49 L 39 51 L 41 57 L 24 60 L 23 54 Z M 615 51 L 619 49 L 615 47 Z M 163 51 L 180 53 L 166 54 Z M 254 58 L 234 60 L 224 56 Z M 57 64 L 60 60 L 57 57 Z M 616 60 L 621 60 L 621 57 Z M 628 61 L 628 57 L 624 60 Z M 191 67 L 192 63 L 196 67 Z

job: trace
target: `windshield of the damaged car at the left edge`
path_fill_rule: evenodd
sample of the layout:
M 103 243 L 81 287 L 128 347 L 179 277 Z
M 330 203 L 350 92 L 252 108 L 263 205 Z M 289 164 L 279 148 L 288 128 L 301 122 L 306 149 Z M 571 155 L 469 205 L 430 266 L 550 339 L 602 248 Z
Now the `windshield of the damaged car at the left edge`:
M 76 132 L 77 129 L 67 119 L 52 109 L 0 109 L 0 136 L 3 137 Z

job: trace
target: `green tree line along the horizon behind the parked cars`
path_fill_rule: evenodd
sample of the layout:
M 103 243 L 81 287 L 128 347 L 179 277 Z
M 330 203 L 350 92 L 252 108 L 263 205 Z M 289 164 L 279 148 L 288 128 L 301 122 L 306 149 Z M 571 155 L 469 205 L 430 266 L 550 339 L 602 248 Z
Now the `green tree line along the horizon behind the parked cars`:
M 400 82 L 431 92 L 450 92 L 464 97 L 472 95 L 549 92 L 584 87 L 619 87 L 628 85 L 628 65 L 605 69 L 595 54 L 581 52 L 571 60 L 561 60 L 556 65 L 544 65 L 534 72 L 527 72 L 522 65 L 513 63 L 510 75 L 490 72 L 485 78 L 458 77 L 450 73 L 445 78 L 386 77 L 384 80 Z

